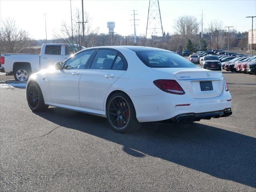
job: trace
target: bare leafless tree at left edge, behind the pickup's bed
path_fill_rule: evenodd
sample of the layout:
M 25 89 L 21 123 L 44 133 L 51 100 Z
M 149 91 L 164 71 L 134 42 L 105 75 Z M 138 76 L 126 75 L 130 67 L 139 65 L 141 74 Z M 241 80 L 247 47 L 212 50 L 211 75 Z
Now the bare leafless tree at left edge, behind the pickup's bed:
M 0 52 L 20 53 L 31 48 L 33 41 L 28 32 L 16 26 L 13 18 L 1 20 L 0 28 Z

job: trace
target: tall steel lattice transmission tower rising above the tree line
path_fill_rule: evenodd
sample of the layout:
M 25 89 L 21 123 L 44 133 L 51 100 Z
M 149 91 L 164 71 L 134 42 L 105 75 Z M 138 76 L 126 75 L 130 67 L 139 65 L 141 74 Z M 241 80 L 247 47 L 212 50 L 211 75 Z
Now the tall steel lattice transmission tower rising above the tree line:
M 163 34 L 159 2 L 158 0 L 149 0 L 146 38 L 147 36 L 163 36 Z

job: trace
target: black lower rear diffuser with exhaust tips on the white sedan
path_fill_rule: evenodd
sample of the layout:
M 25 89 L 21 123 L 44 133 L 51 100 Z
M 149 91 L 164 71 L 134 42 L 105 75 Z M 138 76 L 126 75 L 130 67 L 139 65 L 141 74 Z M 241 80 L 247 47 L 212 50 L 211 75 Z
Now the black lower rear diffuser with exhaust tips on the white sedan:
M 166 121 L 175 122 L 175 123 L 185 123 L 185 122 L 187 123 L 187 122 L 200 121 L 201 119 L 209 120 L 211 118 L 228 117 L 231 114 L 232 114 L 231 108 L 226 108 L 224 110 L 212 111 L 212 112 L 179 114 Z

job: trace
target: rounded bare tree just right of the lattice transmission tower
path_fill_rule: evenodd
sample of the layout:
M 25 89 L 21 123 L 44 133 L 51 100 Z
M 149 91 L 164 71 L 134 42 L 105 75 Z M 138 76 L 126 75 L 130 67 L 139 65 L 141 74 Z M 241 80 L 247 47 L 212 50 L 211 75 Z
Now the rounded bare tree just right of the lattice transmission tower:
M 175 20 L 174 29 L 183 37 L 193 39 L 198 34 L 198 21 L 194 16 L 184 15 Z

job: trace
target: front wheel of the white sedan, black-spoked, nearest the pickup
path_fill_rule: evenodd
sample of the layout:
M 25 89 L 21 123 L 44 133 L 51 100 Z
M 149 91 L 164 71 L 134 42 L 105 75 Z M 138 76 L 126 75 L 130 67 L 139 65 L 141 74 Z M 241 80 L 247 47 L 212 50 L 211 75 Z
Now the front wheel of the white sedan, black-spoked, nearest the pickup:
M 32 82 L 27 89 L 28 106 L 32 111 L 39 112 L 46 110 L 49 106 L 44 104 L 44 97 L 39 85 Z

